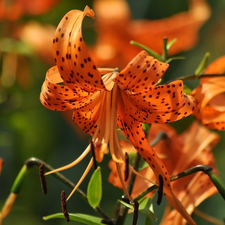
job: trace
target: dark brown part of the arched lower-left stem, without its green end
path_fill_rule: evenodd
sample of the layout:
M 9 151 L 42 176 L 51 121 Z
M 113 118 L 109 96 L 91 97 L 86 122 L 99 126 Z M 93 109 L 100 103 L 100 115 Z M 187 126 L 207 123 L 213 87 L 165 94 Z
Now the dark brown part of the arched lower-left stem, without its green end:
M 28 168 L 32 168 L 33 166 L 40 166 L 41 164 L 44 164 L 44 168 L 47 170 L 47 171 L 51 171 L 53 170 L 54 168 L 52 168 L 50 165 L 48 165 L 47 163 L 45 163 L 44 161 L 38 159 L 38 158 L 30 158 L 28 159 L 26 162 L 25 162 L 25 165 L 28 167 Z M 71 182 L 70 180 L 68 180 L 65 176 L 63 176 L 61 173 L 59 172 L 56 172 L 56 173 L 53 173 L 52 174 L 54 177 L 56 177 L 58 180 L 60 180 L 62 183 L 64 183 L 65 185 L 67 185 L 69 188 L 73 189 L 75 187 L 75 184 L 73 182 Z M 82 191 L 80 190 L 79 188 L 77 188 L 76 190 L 76 193 L 86 202 L 88 202 L 88 199 L 87 199 L 87 195 Z M 104 212 L 104 210 L 100 207 L 100 206 L 97 206 L 95 208 L 95 210 L 104 218 L 104 219 L 107 219 L 107 220 L 111 220 L 110 217 Z

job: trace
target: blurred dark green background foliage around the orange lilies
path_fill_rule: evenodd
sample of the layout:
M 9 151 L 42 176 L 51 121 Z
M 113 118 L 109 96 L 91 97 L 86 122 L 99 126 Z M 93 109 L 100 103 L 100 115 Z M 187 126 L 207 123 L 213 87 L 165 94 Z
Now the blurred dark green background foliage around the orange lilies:
M 41 1 L 41 0 L 40 0 Z M 44 1 L 44 0 L 43 0 Z M 134 19 L 149 18 L 159 19 L 164 18 L 174 13 L 187 10 L 187 1 L 180 0 L 129 0 L 132 16 Z M 179 55 L 185 56 L 185 60 L 174 61 L 170 65 L 167 73 L 167 79 L 193 74 L 198 63 L 206 52 L 210 52 L 210 62 L 217 57 L 225 54 L 225 1 L 210 0 L 208 3 L 212 9 L 211 18 L 205 23 L 200 30 L 200 40 L 195 48 Z M 83 10 L 85 5 L 92 6 L 91 0 L 72 1 L 61 0 L 52 7 L 48 12 L 39 16 L 23 16 L 13 22 L 13 26 L 17 26 L 30 20 L 38 21 L 41 24 L 53 24 L 57 26 L 61 18 L 66 12 L 71 9 Z M 88 20 L 90 21 L 90 20 Z M 88 26 L 87 22 L 84 23 Z M 91 22 L 91 26 L 93 22 Z M 12 23 L 8 21 L 0 21 L 0 38 L 5 36 L 5 29 L 10 31 Z M 8 32 L 10 33 L 10 32 Z M 93 44 L 96 38 L 96 33 L 92 29 L 84 29 L 84 37 L 89 44 Z M 9 44 L 10 45 L 10 44 Z M 51 43 L 49 43 L 51 45 Z M 5 44 L 0 42 L 0 51 L 4 49 Z M 23 166 L 26 159 L 37 157 L 51 166 L 57 168 L 70 163 L 76 159 L 86 148 L 90 137 L 85 135 L 83 131 L 74 129 L 71 123 L 65 119 L 60 112 L 54 112 L 43 107 L 39 101 L 41 85 L 45 79 L 45 74 L 49 64 L 40 59 L 34 54 L 29 54 L 29 49 L 23 49 L 20 46 L 21 52 L 25 51 L 23 56 L 26 60 L 32 84 L 25 87 L 21 86 L 17 80 L 8 86 L 0 86 L 0 157 L 4 159 L 5 164 L 0 177 L 0 206 L 6 200 L 11 185 Z M 25 47 L 24 47 L 25 48 Z M 15 49 L 13 48 L 12 51 Z M 10 49 L 8 51 L 11 51 Z M 2 70 L 2 57 L 5 53 L 0 52 Z M 2 79 L 2 73 L 0 74 Z M 30 78 L 28 77 L 28 80 Z M 189 87 L 193 88 L 197 85 L 196 82 L 187 82 Z M 184 122 L 177 122 L 177 127 L 187 127 L 190 119 Z M 75 125 L 74 125 L 75 126 Z M 181 130 L 180 130 L 181 131 Z M 221 141 L 214 149 L 214 154 L 217 160 L 217 166 L 220 171 L 222 180 L 225 182 L 225 134 L 219 132 Z M 63 172 L 65 176 L 71 179 L 74 183 L 78 181 L 82 171 L 86 168 L 90 156 L 86 157 L 81 163 L 70 170 Z M 103 199 L 101 206 L 111 216 L 114 215 L 115 200 L 120 198 L 122 191 L 108 183 L 108 161 L 110 156 L 105 156 L 101 163 L 103 173 Z M 90 173 L 91 174 L 91 173 Z M 89 176 L 81 184 L 80 188 L 86 192 Z M 38 168 L 34 167 L 30 170 L 23 184 L 23 188 L 18 195 L 16 202 L 9 216 L 4 220 L 5 225 L 36 225 L 36 224 L 67 224 L 62 219 L 52 221 L 43 221 L 42 216 L 61 212 L 60 193 L 65 190 L 70 192 L 64 184 L 60 183 L 54 177 L 47 177 L 48 194 L 44 196 L 41 191 L 39 182 Z M 156 202 L 156 200 L 153 200 Z M 163 201 L 165 204 L 165 199 Z M 155 212 L 159 216 L 162 213 L 162 205 L 155 204 Z M 200 205 L 200 209 L 210 215 L 223 220 L 225 218 L 225 202 L 216 194 L 207 199 Z M 69 212 L 79 212 L 86 214 L 97 215 L 95 211 L 89 207 L 77 194 L 74 194 L 68 202 Z M 132 217 L 128 218 L 126 224 L 131 224 Z M 143 224 L 143 218 L 140 216 L 139 223 Z M 210 224 L 195 216 L 197 224 Z M 159 224 L 160 220 L 153 222 Z M 79 224 L 72 222 L 72 224 Z

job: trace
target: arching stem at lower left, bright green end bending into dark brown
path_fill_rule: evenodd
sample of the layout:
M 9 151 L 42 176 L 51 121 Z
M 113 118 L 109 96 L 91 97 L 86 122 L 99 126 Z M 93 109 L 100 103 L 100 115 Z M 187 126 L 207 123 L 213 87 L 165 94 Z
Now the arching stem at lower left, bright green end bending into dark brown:
M 11 192 L 18 194 L 20 187 L 22 185 L 22 182 L 24 180 L 25 174 L 28 172 L 29 169 L 31 169 L 34 166 L 40 166 L 41 164 L 44 164 L 44 168 L 47 171 L 53 170 L 53 168 L 45 163 L 44 161 L 38 159 L 38 158 L 30 158 L 26 160 L 24 166 L 20 170 L 19 174 L 17 175 L 15 182 L 13 183 L 13 186 L 11 188 Z M 67 185 L 69 188 L 73 189 L 75 187 L 75 184 L 72 183 L 70 180 L 68 180 L 65 176 L 63 176 L 61 173 L 56 172 L 52 174 L 54 177 L 56 177 L 58 180 L 60 180 L 62 183 Z M 88 202 L 87 195 L 80 190 L 79 188 L 76 190 L 76 193 L 86 202 Z M 100 207 L 97 206 L 95 208 L 96 212 L 98 212 L 104 219 L 110 220 L 111 218 L 104 212 L 104 210 Z

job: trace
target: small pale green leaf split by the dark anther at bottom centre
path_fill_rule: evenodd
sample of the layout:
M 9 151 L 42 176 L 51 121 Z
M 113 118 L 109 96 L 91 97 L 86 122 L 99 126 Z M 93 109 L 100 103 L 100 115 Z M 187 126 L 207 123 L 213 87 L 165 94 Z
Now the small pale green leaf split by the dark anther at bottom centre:
M 132 205 L 118 200 L 122 205 L 126 206 L 129 209 L 134 209 Z M 149 197 L 143 198 L 139 201 L 139 209 L 138 212 L 149 217 L 149 219 L 157 220 L 157 217 L 153 211 L 152 200 Z

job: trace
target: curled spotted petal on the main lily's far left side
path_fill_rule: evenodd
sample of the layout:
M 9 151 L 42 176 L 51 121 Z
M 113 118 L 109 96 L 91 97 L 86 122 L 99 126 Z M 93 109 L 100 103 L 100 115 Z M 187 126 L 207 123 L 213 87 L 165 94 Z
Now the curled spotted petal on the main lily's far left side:
M 60 85 L 60 83 L 62 85 Z M 46 74 L 40 94 L 41 103 L 48 109 L 65 111 L 73 109 L 75 102 L 81 100 L 89 93 L 84 92 L 78 86 L 73 90 L 63 85 L 56 66 L 50 68 Z

